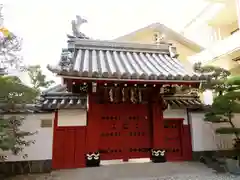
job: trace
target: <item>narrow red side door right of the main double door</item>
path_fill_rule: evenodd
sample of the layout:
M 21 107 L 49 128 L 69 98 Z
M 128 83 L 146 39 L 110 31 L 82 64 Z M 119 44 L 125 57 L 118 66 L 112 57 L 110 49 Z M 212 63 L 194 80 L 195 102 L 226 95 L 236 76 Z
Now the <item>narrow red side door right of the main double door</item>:
M 164 144 L 167 160 L 180 160 L 182 152 L 182 120 L 164 120 Z

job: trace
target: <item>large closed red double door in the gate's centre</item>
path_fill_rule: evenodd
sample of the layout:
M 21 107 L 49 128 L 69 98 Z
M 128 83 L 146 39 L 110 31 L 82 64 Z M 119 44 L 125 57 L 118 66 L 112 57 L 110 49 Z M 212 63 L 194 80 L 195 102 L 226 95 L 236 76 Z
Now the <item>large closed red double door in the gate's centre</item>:
M 150 120 L 146 105 L 103 104 L 98 108 L 101 108 L 98 120 L 102 160 L 150 156 Z

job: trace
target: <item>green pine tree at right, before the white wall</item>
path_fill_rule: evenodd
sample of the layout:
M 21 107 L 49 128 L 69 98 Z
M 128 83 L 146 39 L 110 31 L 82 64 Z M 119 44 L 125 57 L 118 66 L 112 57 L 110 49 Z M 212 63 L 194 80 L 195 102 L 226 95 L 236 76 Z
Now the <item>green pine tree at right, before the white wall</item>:
M 233 123 L 236 113 L 240 113 L 240 76 L 230 77 L 230 72 L 219 67 L 201 66 L 195 64 L 194 69 L 197 73 L 212 75 L 213 79 L 203 83 L 201 90 L 212 90 L 216 95 L 213 104 L 205 114 L 205 121 L 212 123 L 224 123 L 229 127 L 219 127 L 216 129 L 218 134 L 234 135 L 234 147 L 240 150 L 240 128 Z

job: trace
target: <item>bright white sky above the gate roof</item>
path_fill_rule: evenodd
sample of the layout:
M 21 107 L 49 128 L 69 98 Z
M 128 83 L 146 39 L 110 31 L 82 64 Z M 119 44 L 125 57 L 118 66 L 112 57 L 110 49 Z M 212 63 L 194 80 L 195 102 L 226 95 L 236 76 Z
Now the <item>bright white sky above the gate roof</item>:
M 94 39 L 113 39 L 154 22 L 176 31 L 205 6 L 204 0 L 0 0 L 4 4 L 4 25 L 23 38 L 26 64 L 56 64 L 71 34 L 75 15 L 88 20 L 82 32 Z

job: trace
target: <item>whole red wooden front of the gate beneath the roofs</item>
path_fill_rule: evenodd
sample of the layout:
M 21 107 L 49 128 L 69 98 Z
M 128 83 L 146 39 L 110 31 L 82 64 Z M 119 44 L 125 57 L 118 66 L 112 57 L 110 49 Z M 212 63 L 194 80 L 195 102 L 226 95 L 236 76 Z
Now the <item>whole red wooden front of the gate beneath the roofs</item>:
M 101 160 L 150 157 L 151 148 L 174 149 L 174 152 L 167 153 L 171 154 L 168 155 L 170 161 L 192 159 L 190 125 L 186 124 L 185 118 L 165 118 L 157 103 L 150 106 L 118 104 L 119 108 L 115 110 L 111 109 L 113 106 L 114 104 L 96 104 L 89 96 L 86 126 L 59 126 L 58 112 L 55 113 L 53 169 L 84 167 L 85 154 L 99 150 Z M 132 109 L 134 106 L 135 108 Z M 80 117 L 75 116 L 75 118 Z M 179 136 L 178 134 L 175 134 L 175 137 L 168 136 L 174 130 L 165 129 L 165 120 L 181 122 L 177 125 L 178 130 L 175 131 Z M 109 126 L 109 121 L 115 122 Z M 171 144 L 166 143 L 166 138 L 178 138 L 178 140 L 172 141 Z M 111 155 L 109 152 L 106 153 L 109 150 Z

